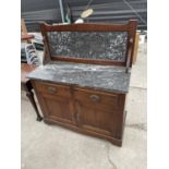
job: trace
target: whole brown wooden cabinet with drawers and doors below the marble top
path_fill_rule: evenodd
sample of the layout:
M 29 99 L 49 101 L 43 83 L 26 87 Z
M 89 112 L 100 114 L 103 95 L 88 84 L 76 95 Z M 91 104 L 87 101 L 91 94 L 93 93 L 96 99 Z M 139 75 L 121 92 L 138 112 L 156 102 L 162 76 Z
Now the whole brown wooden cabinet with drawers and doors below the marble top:
M 125 94 L 33 81 L 44 121 L 121 146 Z

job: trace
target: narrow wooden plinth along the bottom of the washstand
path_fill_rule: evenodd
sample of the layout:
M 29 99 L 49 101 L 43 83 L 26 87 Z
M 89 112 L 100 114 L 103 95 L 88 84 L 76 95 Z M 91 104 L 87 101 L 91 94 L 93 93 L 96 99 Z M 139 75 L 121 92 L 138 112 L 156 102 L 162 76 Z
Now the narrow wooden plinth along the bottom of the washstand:
M 44 122 L 47 123 L 47 124 L 57 124 L 57 125 L 63 126 L 65 129 L 70 129 L 72 131 L 82 133 L 82 134 L 86 134 L 86 135 L 104 138 L 104 140 L 109 141 L 113 145 L 117 145 L 117 146 L 120 146 L 120 147 L 122 146 L 122 140 L 118 140 L 118 138 L 114 138 L 114 137 L 111 137 L 111 136 L 102 135 L 102 134 L 99 134 L 99 133 L 96 133 L 96 132 L 93 132 L 93 131 L 86 131 L 86 130 L 83 130 L 83 129 L 77 128 L 75 125 L 68 124 L 68 123 L 62 123 L 62 122 L 55 121 L 55 120 L 47 119 L 47 118 L 44 118 Z

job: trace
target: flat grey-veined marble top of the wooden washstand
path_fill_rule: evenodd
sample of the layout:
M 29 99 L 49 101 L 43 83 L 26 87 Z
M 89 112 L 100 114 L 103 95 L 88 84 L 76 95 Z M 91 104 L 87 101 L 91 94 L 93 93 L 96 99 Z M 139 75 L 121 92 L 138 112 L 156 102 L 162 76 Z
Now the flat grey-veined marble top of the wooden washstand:
M 73 84 L 105 90 L 128 93 L 131 73 L 125 68 L 84 63 L 49 62 L 38 67 L 27 77 L 52 83 Z

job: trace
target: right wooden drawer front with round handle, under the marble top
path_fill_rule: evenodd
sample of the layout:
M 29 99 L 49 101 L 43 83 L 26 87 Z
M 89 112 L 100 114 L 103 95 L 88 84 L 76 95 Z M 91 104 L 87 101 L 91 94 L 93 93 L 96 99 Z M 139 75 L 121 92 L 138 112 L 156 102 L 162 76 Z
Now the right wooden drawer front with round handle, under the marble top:
M 121 109 L 120 95 L 105 92 L 96 92 L 90 89 L 74 89 L 74 97 L 82 104 L 87 104 L 96 109 L 102 108 L 106 110 Z

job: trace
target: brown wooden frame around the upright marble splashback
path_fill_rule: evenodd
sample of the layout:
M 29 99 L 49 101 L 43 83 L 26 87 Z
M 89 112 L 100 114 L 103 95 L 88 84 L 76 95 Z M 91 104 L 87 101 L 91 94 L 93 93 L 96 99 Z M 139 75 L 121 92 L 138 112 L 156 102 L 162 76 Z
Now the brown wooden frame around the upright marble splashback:
M 44 39 L 45 53 L 44 64 L 49 61 L 69 61 L 79 63 L 93 63 L 102 65 L 122 65 L 126 67 L 126 70 L 132 67 L 134 43 L 136 34 L 137 21 L 130 20 L 128 24 L 104 24 L 104 23 L 87 23 L 87 24 L 70 24 L 70 25 L 48 25 L 40 23 L 40 31 Z M 126 56 L 124 61 L 112 61 L 102 59 L 84 59 L 84 58 L 71 58 L 71 57 L 53 57 L 51 56 L 48 32 L 128 32 Z

